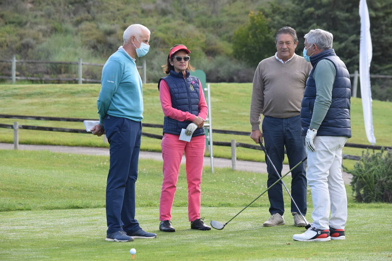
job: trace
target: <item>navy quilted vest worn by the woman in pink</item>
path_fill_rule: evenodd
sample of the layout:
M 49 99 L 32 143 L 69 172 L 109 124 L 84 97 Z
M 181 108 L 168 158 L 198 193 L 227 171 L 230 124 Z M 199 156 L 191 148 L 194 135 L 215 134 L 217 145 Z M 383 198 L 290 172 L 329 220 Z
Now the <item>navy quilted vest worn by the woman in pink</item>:
M 200 100 L 200 86 L 199 79 L 191 76 L 189 71 L 186 72 L 186 77 L 182 72 L 170 71 L 170 74 L 163 77 L 158 82 L 158 89 L 160 81 L 165 80 L 169 85 L 172 107 L 183 112 L 190 112 L 196 116 L 199 115 L 199 100 Z M 163 133 L 171 133 L 180 135 L 181 129 L 186 129 L 191 121 L 177 121 L 169 117 L 163 119 Z M 204 128 L 198 128 L 194 131 L 192 137 L 205 135 Z

